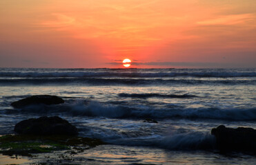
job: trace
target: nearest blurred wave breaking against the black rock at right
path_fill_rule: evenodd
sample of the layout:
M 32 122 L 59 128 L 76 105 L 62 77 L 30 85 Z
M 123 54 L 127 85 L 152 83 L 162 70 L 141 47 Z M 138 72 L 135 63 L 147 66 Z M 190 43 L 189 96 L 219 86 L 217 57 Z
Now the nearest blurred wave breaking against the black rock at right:
M 141 123 L 133 124 L 134 129 L 101 129 L 99 127 L 89 126 L 83 129 L 81 135 L 89 137 L 97 137 L 108 142 L 108 144 L 118 144 L 126 146 L 154 146 L 157 148 L 165 148 L 171 151 L 213 151 L 216 149 L 216 139 L 209 132 L 190 131 L 179 133 L 173 131 L 169 135 L 150 131 L 150 125 L 141 125 Z M 143 127 L 144 129 L 137 129 Z M 155 126 L 154 129 L 159 129 Z M 152 128 L 151 128 L 152 129 Z

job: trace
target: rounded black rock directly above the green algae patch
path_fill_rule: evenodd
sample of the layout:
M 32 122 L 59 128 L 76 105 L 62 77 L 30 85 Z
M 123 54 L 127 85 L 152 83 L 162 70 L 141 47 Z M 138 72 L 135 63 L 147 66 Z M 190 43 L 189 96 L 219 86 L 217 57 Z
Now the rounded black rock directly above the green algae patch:
M 30 118 L 15 125 L 14 131 L 30 135 L 77 135 L 75 126 L 58 116 Z

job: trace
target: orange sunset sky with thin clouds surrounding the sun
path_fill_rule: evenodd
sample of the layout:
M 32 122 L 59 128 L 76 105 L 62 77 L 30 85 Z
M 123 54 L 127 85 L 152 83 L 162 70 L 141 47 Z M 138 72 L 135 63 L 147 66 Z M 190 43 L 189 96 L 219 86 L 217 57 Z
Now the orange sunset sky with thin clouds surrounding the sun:
M 256 67 L 255 0 L 1 0 L 0 67 Z

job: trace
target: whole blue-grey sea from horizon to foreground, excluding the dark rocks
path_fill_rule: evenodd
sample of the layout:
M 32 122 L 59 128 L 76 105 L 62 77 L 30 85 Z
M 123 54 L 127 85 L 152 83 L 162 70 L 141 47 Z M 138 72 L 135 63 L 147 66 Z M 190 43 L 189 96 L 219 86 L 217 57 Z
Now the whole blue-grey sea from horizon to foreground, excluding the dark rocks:
M 41 94 L 66 102 L 10 107 Z M 0 134 L 43 115 L 59 115 L 79 135 L 109 143 L 88 150 L 84 164 L 256 162 L 253 155 L 219 154 L 210 135 L 220 124 L 256 129 L 256 69 L 0 68 Z

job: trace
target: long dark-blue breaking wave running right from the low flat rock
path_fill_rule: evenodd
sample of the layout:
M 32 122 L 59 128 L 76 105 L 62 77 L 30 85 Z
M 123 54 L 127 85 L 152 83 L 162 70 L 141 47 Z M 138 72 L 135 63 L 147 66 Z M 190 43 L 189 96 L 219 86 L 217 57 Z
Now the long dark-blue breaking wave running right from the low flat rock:
M 217 109 L 217 108 L 154 108 L 154 107 L 127 107 L 123 105 L 101 104 L 99 102 L 60 105 L 31 105 L 23 109 L 14 109 L 9 113 L 65 113 L 67 115 L 102 116 L 106 118 L 153 118 L 163 119 L 213 119 L 230 121 L 256 120 L 256 108 L 251 109 Z

